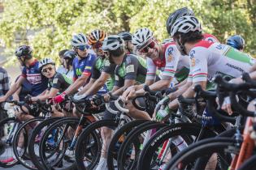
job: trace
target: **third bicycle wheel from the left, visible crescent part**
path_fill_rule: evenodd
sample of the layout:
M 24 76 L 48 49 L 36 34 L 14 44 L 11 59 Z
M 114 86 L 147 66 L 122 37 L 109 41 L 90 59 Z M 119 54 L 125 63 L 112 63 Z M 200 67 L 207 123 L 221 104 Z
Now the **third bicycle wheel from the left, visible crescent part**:
M 49 125 L 61 118 L 62 117 L 50 117 L 45 121 L 41 121 L 41 123 L 33 130 L 33 133 L 28 139 L 28 155 L 37 169 L 45 170 L 44 166 L 41 164 L 41 159 L 39 156 L 39 142 L 41 141 L 41 137 Z

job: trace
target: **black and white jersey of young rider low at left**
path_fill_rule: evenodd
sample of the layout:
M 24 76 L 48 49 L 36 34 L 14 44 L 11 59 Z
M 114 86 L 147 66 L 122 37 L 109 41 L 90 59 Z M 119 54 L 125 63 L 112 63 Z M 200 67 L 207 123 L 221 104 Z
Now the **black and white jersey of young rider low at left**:
M 59 93 L 62 93 L 72 84 L 72 79 L 68 78 L 66 74 L 56 73 L 52 79 L 49 79 L 48 90 L 56 88 Z

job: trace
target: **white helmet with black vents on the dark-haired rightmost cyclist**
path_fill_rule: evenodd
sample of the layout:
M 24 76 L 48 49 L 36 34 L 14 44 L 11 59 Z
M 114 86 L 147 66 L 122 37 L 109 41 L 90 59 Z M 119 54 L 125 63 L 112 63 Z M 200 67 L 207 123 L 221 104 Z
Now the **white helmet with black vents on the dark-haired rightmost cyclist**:
M 171 27 L 171 36 L 176 36 L 177 33 L 187 32 L 202 32 L 202 25 L 194 16 L 183 16 L 177 19 Z

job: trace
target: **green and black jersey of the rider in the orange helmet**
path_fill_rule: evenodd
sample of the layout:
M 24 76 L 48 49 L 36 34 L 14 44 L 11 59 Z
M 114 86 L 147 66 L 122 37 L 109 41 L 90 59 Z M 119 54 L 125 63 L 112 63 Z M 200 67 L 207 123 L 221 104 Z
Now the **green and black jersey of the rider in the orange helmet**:
M 111 78 L 106 81 L 106 89 L 111 91 L 115 83 L 115 64 L 111 64 L 105 57 L 97 57 L 93 62 L 92 79 L 98 79 L 102 72 L 111 75 Z

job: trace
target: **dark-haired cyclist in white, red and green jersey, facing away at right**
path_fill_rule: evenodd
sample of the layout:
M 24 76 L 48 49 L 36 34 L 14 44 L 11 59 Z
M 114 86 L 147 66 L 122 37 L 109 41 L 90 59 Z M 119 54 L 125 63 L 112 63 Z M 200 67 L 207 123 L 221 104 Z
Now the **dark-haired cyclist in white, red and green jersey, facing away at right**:
M 184 91 L 183 96 L 186 98 L 193 97 L 196 84 L 206 89 L 216 74 L 236 78 L 249 71 L 254 63 L 247 54 L 228 45 L 203 40 L 201 23 L 193 16 L 177 19 L 171 28 L 171 36 L 179 46 L 178 49 L 190 57 L 188 81 L 192 86 Z M 158 111 L 156 118 L 163 120 L 177 106 L 177 100 L 171 101 L 165 109 Z

